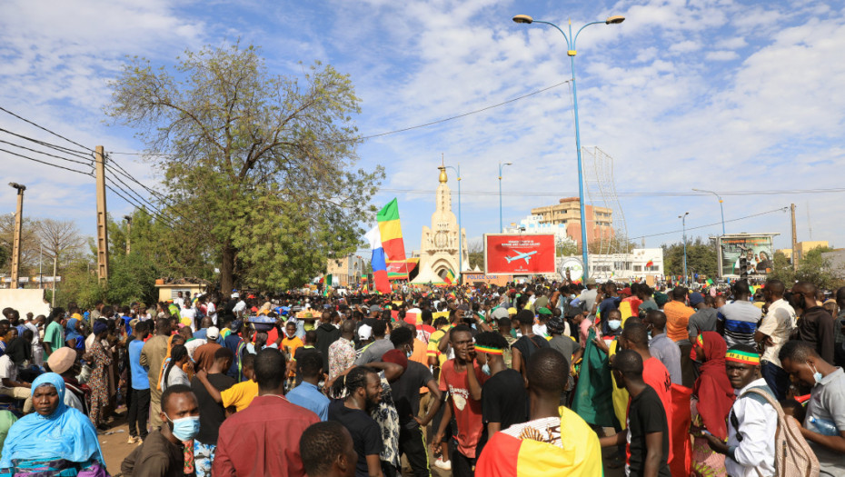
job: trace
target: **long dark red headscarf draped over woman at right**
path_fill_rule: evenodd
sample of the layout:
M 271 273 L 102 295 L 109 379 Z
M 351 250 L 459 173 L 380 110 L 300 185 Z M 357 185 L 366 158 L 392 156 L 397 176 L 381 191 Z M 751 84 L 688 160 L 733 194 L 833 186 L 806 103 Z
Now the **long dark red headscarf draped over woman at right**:
M 696 344 L 704 350 L 704 363 L 699 369 L 699 378 L 692 387 L 692 393 L 698 396 L 696 409 L 701 421 L 714 436 L 728 437 L 726 418 L 736 396 L 728 381 L 725 371 L 725 352 L 728 345 L 721 334 L 703 332 L 696 338 Z

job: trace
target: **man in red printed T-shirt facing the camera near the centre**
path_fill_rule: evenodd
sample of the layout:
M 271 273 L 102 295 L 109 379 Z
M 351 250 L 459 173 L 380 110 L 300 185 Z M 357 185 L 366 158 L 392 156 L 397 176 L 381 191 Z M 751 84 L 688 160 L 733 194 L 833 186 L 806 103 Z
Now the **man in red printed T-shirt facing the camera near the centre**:
M 455 417 L 458 424 L 458 446 L 452 452 L 452 475 L 472 476 L 475 473 L 475 447 L 482 436 L 482 384 L 487 375 L 475 363 L 472 332 L 464 324 L 452 328 L 450 342 L 455 357 L 443 363 L 440 371 L 440 390 L 449 392 L 440 428 L 433 442 L 441 442 L 446 426 Z M 470 373 L 472 372 L 472 373 Z

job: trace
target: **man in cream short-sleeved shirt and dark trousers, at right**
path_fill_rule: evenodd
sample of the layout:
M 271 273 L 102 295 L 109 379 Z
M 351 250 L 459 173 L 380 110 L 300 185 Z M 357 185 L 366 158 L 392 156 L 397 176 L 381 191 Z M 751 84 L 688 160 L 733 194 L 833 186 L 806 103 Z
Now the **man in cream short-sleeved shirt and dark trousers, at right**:
M 766 296 L 766 303 L 770 303 L 768 313 L 763 316 L 760 327 L 754 333 L 754 341 L 765 346 L 760 371 L 778 401 L 786 399 L 786 392 L 790 389 L 790 375 L 783 371 L 778 353 L 783 344 L 790 341 L 792 323 L 795 320 L 795 310 L 783 299 L 785 290 L 786 287 L 780 280 L 766 282 L 763 294 Z

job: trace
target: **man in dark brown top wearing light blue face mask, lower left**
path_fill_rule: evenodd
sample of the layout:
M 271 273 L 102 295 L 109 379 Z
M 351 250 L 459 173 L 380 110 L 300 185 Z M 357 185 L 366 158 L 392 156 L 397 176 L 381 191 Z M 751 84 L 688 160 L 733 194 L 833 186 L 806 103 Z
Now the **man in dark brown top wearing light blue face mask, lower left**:
M 200 409 L 189 386 L 176 384 L 162 393 L 162 426 L 150 432 L 120 465 L 127 477 L 182 476 L 193 472 L 184 461 L 184 442 L 200 430 Z M 188 468 L 190 465 L 192 468 Z M 190 471 L 190 472 L 189 472 Z

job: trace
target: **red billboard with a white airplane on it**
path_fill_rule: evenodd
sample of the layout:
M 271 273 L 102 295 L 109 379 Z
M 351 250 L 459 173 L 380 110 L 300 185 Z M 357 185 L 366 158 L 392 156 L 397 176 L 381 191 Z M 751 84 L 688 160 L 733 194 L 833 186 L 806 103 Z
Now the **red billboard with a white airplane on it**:
M 484 273 L 557 273 L 554 234 L 484 234 Z

